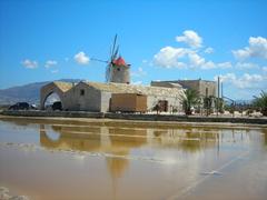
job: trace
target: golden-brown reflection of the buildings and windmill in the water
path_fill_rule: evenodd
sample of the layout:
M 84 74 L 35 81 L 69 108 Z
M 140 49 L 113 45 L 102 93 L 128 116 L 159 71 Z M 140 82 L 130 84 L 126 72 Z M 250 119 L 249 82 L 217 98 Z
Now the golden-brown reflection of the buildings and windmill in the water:
M 50 133 L 58 133 L 50 137 Z M 219 153 L 222 140 L 236 142 L 248 140 L 249 134 L 240 130 L 210 128 L 125 128 L 107 126 L 40 124 L 40 144 L 47 149 L 103 152 L 106 164 L 112 178 L 120 178 L 129 166 L 131 151 L 142 148 L 168 151 L 170 149 L 196 153 L 216 149 Z M 141 151 L 141 150 L 140 150 Z M 118 157 L 117 157 L 118 156 Z

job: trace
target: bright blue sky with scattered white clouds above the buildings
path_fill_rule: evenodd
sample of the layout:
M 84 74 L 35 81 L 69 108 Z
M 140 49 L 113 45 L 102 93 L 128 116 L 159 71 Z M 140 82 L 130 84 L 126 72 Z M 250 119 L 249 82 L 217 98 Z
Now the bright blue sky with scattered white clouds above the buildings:
M 0 88 L 62 78 L 105 81 L 119 36 L 132 83 L 224 80 L 225 94 L 267 88 L 265 0 L 0 0 Z

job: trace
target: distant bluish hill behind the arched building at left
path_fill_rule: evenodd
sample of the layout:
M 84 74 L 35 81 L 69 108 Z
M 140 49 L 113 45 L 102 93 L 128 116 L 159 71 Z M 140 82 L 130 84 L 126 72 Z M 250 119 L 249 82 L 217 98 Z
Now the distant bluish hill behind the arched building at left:
M 80 79 L 61 79 L 57 81 L 79 82 Z M 40 89 L 51 81 L 34 82 L 19 87 L 12 87 L 0 90 L 0 104 L 13 104 L 16 102 L 26 101 L 39 104 Z

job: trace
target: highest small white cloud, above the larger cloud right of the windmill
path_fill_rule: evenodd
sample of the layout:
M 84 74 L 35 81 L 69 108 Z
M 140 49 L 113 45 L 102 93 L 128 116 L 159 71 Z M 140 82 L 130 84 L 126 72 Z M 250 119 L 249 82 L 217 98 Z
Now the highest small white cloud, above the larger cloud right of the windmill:
M 176 37 L 176 41 L 185 42 L 191 48 L 200 48 L 202 43 L 201 37 L 199 37 L 198 33 L 192 30 L 184 31 L 184 36 Z

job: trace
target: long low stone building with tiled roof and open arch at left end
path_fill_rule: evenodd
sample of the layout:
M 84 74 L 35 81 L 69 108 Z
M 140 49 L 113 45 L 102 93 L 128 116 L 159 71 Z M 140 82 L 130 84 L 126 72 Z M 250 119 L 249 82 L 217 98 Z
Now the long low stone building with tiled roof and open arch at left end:
M 165 102 L 166 110 L 181 111 L 180 97 L 184 89 L 146 87 L 126 83 L 100 83 L 81 81 L 79 83 L 51 82 L 41 88 L 40 104 L 44 109 L 47 98 L 57 93 L 62 103 L 62 110 L 108 112 L 112 93 L 138 93 L 147 96 L 147 110 L 151 111 L 159 102 Z

